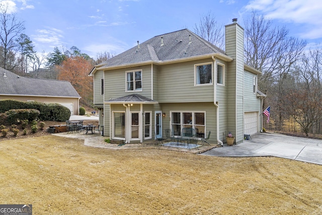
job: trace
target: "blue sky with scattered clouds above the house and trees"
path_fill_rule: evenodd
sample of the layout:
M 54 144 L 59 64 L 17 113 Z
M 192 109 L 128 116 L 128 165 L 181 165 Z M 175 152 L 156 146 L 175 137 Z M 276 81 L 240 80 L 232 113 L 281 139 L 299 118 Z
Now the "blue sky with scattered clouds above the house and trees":
M 252 9 L 285 25 L 291 36 L 316 47 L 322 41 L 320 0 L 11 0 L 2 1 L 25 21 L 25 34 L 38 52 L 76 46 L 95 57 L 119 54 L 145 40 L 184 28 L 194 31 L 200 17 L 211 12 L 218 23 L 232 18 L 244 26 Z

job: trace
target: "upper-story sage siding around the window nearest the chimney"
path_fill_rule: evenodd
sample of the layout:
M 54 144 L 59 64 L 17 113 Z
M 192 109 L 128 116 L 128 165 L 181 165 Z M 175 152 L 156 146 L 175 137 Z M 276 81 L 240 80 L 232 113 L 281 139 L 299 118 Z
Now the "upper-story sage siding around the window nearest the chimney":
M 159 102 L 213 102 L 213 85 L 195 86 L 195 64 L 213 62 L 211 58 L 159 67 Z

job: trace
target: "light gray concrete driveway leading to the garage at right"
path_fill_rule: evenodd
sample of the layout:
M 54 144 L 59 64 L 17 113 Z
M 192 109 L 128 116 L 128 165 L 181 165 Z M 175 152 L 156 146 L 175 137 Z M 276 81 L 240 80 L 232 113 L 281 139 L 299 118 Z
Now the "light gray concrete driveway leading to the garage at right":
M 275 156 L 322 165 L 322 140 L 287 136 L 279 133 L 256 133 L 241 144 L 214 148 L 201 155 L 218 157 Z

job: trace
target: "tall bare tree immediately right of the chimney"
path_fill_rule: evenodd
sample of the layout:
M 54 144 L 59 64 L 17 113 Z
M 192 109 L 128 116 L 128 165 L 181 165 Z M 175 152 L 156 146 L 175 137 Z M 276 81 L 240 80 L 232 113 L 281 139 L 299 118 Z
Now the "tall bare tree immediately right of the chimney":
M 283 111 L 280 104 L 287 91 L 287 79 L 293 73 L 293 67 L 305 46 L 306 41 L 290 37 L 285 26 L 273 26 L 271 20 L 256 11 L 245 21 L 245 62 L 262 71 L 263 75 L 258 81 L 259 89 L 264 92 L 277 89 L 274 98 L 269 94 L 266 98 L 266 102 L 277 100 L 274 108 L 278 115 L 275 120 L 277 129 L 282 128 Z

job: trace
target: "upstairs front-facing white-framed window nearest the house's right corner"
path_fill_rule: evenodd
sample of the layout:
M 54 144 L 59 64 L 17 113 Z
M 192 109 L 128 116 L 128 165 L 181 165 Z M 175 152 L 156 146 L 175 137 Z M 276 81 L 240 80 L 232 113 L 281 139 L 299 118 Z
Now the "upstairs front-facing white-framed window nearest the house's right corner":
M 212 63 L 195 65 L 195 85 L 212 85 Z

